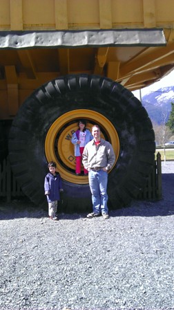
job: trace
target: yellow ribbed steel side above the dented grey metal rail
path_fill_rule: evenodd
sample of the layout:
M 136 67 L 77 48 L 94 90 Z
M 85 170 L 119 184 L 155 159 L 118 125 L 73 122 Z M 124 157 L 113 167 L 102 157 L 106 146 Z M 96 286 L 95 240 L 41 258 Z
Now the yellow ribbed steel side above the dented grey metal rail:
M 0 30 L 173 28 L 173 0 L 0 0 Z

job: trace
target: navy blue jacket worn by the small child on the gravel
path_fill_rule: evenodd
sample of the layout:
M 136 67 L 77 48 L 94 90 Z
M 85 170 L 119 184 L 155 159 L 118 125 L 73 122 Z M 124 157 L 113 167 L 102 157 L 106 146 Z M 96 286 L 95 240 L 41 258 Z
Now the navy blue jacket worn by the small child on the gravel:
M 47 194 L 48 202 L 60 200 L 59 190 L 62 188 L 61 176 L 58 172 L 53 176 L 50 172 L 45 177 L 44 189 L 45 192 L 50 192 Z

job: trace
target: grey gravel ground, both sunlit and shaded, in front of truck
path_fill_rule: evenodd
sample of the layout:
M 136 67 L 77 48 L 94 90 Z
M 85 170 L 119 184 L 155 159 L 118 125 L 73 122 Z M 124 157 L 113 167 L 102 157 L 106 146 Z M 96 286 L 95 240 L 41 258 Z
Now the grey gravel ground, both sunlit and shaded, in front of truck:
M 1 203 L 0 309 L 174 309 L 174 162 L 162 182 L 161 201 L 105 220 Z

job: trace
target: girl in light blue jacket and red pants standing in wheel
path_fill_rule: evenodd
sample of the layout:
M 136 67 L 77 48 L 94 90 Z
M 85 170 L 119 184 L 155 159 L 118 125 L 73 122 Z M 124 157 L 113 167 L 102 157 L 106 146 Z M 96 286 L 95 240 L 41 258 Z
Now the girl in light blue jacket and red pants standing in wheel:
M 71 142 L 75 145 L 75 160 L 76 160 L 76 167 L 75 173 L 78 175 L 81 174 L 81 161 L 82 161 L 82 154 L 84 152 L 85 145 L 93 140 L 92 134 L 90 131 L 86 129 L 86 120 L 79 120 L 78 122 L 77 131 L 72 134 Z M 84 175 L 88 175 L 88 170 L 84 169 Z

